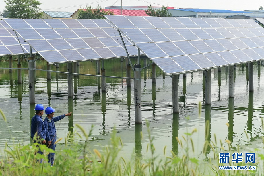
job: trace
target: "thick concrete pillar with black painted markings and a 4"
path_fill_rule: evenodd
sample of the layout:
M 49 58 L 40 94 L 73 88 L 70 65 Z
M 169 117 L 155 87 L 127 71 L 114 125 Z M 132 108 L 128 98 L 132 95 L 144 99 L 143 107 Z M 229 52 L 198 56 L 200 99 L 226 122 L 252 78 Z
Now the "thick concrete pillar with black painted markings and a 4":
M 142 123 L 141 115 L 141 66 L 134 65 L 135 123 Z

